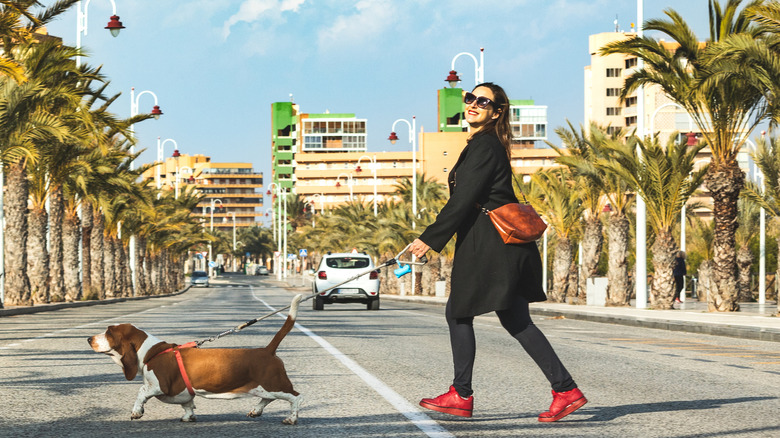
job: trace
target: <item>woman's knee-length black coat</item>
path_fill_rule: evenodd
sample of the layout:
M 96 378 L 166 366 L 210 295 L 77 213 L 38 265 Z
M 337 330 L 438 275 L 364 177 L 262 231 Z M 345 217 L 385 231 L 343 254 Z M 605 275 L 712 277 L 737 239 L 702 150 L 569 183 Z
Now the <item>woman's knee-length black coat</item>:
M 506 309 L 517 295 L 544 301 L 536 243 L 507 245 L 479 210 L 517 202 L 506 150 L 493 133 L 477 134 L 449 175 L 450 199 L 420 235 L 439 252 L 457 233 L 450 306 L 456 318 Z

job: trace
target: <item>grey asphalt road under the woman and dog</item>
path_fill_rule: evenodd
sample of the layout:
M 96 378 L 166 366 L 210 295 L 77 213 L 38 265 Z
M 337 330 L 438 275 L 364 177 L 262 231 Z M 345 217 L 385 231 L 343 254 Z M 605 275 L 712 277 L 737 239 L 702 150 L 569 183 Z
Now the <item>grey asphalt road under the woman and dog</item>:
M 447 390 L 451 360 L 443 307 L 382 302 L 302 304 L 278 355 L 305 399 L 299 424 L 275 401 L 248 418 L 251 401 L 197 398 L 196 423 L 156 399 L 140 420 L 130 410 L 141 380 L 128 382 L 87 338 L 130 322 L 169 342 L 221 333 L 290 303 L 291 290 L 233 277 L 185 294 L 0 318 L 0 436 L 164 437 L 775 437 L 780 435 L 780 350 L 743 341 L 565 319 L 540 319 L 590 402 L 558 423 L 539 423 L 549 384 L 494 316 L 479 317 L 475 415 L 420 408 Z M 204 345 L 264 346 L 283 317 Z

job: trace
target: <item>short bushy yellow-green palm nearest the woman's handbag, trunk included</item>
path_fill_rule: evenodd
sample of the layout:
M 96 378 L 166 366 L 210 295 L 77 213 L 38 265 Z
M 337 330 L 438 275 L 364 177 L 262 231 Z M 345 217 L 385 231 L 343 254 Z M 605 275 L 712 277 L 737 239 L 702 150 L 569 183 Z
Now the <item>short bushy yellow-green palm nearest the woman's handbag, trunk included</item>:
M 571 173 L 564 169 L 535 173 L 526 187 L 526 199 L 555 231 L 553 288 L 549 297 L 553 302 L 562 303 L 577 293 L 576 288 L 570 287 L 570 268 L 574 263 L 574 241 L 580 233 L 582 199 Z

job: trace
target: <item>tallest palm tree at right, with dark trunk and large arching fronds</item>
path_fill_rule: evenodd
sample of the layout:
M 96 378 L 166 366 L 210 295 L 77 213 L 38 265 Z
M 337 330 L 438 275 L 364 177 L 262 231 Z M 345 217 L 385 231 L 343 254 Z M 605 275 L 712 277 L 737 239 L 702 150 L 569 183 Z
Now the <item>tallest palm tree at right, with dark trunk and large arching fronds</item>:
M 644 29 L 658 31 L 679 44 L 669 51 L 664 44 L 649 37 L 632 38 L 607 45 L 602 54 L 624 53 L 641 58 L 645 67 L 626 78 L 621 97 L 625 98 L 642 85 L 657 85 L 677 104 L 685 108 L 702 131 L 712 151 L 710 171 L 705 178 L 714 201 L 714 281 L 713 303 L 718 311 L 734 311 L 736 303 L 737 199 L 744 174 L 736 160 L 750 132 L 768 114 L 764 87 L 745 80 L 752 74 L 742 69 L 744 63 L 720 52 L 736 39 L 758 37 L 746 12 L 739 10 L 741 0 L 729 0 L 721 8 L 716 0 L 709 2 L 710 40 L 701 44 L 690 26 L 674 10 L 665 11 L 668 20 L 649 20 Z M 760 0 L 750 3 L 760 4 Z

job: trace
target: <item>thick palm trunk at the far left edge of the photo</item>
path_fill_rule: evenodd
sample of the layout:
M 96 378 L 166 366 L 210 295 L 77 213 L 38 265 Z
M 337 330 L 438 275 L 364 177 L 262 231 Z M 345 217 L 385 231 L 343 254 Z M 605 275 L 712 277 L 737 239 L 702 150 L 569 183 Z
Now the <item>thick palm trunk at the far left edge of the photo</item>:
M 30 196 L 24 162 L 8 165 L 5 186 L 5 305 L 32 306 L 27 277 L 27 198 Z

